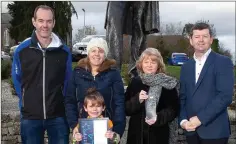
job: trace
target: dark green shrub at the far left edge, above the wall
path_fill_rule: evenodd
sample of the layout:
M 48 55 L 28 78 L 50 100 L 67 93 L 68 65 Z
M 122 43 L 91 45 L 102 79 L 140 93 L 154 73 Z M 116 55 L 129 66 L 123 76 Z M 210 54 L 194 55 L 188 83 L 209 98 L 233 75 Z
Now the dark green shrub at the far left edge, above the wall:
M 11 60 L 1 61 L 1 74 L 2 79 L 8 79 L 11 76 Z

